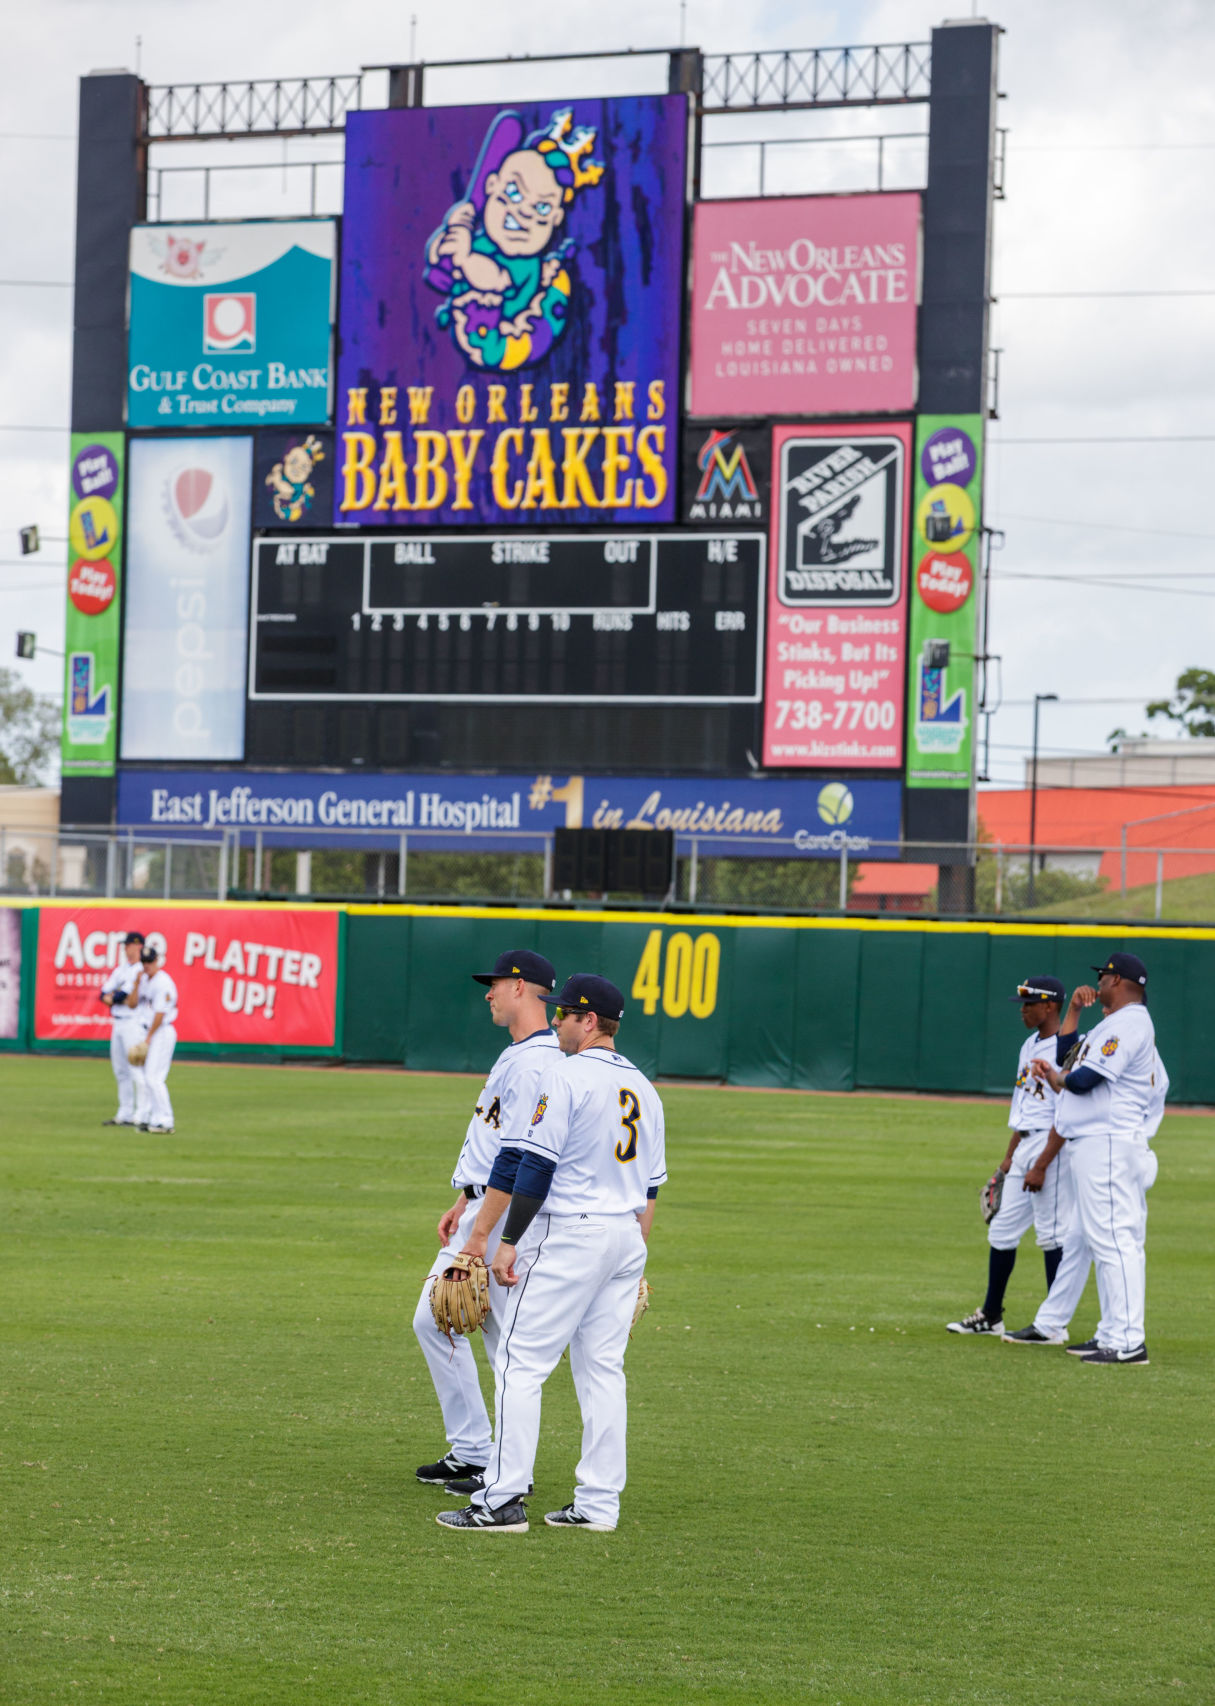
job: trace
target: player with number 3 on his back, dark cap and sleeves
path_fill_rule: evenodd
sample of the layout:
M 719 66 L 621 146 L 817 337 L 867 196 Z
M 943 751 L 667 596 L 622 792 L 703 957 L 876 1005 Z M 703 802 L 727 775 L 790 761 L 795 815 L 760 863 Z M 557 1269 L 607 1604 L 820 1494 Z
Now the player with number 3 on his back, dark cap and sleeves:
M 551 1529 L 608 1534 L 625 1486 L 625 1346 L 666 1182 L 662 1102 L 614 1046 L 625 998 L 606 978 L 568 978 L 553 1018 L 563 1059 L 539 1083 L 531 1129 L 505 1145 L 478 1227 L 505 1221 L 493 1273 L 510 1290 L 495 1358 L 493 1450 L 445 1529 L 527 1532 L 524 1498 L 539 1442 L 541 1387 L 570 1348 L 582 1457 Z

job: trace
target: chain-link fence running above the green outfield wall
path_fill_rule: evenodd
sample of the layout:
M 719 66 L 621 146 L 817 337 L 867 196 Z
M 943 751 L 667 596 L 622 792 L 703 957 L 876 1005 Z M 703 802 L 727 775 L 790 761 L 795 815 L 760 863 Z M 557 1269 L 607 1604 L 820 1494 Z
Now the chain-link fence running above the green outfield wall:
M 96 899 L 466 901 L 744 913 L 875 913 L 1215 923 L 1215 848 L 867 843 L 814 855 L 795 841 L 676 836 L 666 894 L 556 891 L 553 836 L 497 831 L 224 831 L 0 827 L 0 894 Z M 503 839 L 507 846 L 503 848 Z M 703 846 L 712 851 L 703 851 Z M 942 884 L 942 868 L 945 882 Z

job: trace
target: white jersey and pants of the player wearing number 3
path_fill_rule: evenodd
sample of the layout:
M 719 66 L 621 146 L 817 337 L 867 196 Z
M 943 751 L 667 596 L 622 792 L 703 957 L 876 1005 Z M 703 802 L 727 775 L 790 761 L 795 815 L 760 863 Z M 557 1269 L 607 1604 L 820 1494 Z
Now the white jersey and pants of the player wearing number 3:
M 539 1443 L 541 1387 L 570 1348 L 582 1409 L 578 1517 L 614 1529 L 625 1488 L 625 1346 L 645 1269 L 638 1216 L 666 1182 L 666 1123 L 648 1078 L 614 1049 L 561 1056 L 544 1073 L 520 1145 L 556 1163 L 519 1242 L 495 1360 L 495 1442 L 474 1505 L 524 1498 Z

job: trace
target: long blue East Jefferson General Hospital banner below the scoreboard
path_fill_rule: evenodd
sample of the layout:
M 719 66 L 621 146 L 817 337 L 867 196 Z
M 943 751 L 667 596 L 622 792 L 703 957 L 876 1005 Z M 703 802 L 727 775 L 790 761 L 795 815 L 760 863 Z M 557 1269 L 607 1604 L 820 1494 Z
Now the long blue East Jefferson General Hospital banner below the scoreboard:
M 239 831 L 266 843 L 538 851 L 553 829 L 672 829 L 701 853 L 896 858 L 896 780 L 705 783 L 693 776 L 423 776 L 121 769 L 118 821 L 169 836 Z M 343 831 L 357 831 L 358 836 Z M 367 839 L 370 833 L 379 836 Z M 304 843 L 305 844 L 305 843 Z

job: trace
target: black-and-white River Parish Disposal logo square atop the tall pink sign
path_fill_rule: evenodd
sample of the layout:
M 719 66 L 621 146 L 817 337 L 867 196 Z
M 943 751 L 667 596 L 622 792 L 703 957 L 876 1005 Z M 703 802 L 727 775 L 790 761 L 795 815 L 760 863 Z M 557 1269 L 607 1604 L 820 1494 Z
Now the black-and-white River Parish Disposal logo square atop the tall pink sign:
M 787 438 L 780 450 L 780 602 L 896 604 L 903 573 L 901 438 Z

